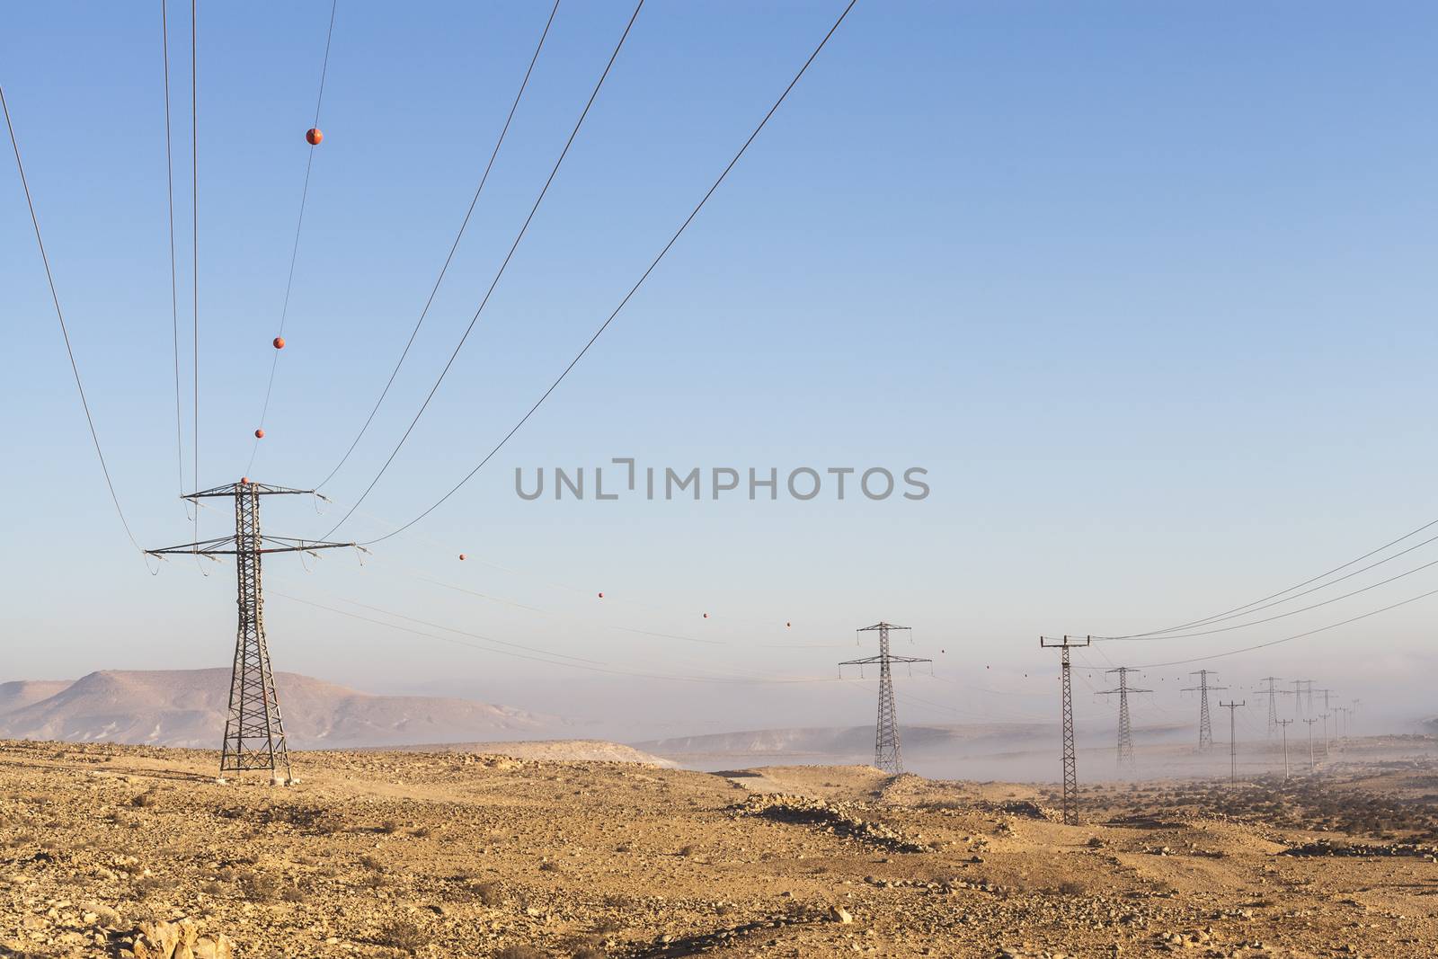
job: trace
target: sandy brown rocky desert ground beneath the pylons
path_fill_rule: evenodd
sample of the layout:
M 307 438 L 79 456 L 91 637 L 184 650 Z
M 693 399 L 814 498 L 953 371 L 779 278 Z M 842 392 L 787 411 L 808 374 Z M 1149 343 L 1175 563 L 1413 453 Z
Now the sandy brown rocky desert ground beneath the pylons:
M 486 746 L 493 749 L 495 746 Z M 492 752 L 0 743 L 0 956 L 1419 956 L 1438 751 L 1048 786 Z M 180 945 L 175 945 L 175 940 Z

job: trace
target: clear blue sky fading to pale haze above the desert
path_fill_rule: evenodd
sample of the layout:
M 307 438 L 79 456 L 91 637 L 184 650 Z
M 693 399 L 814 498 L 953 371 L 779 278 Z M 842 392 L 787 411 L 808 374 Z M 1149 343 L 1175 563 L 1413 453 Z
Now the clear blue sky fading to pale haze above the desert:
M 147 546 L 191 538 L 177 500 L 158 6 L 13 4 L 0 33 L 76 358 Z M 188 4 L 171 6 L 188 486 Z M 329 4 L 200 7 L 200 485 L 214 486 L 250 456 Z M 840 9 L 646 4 L 475 334 L 336 538 L 414 518 L 513 426 Z M 339 0 L 289 345 L 252 476 L 308 487 L 349 446 L 548 10 Z M 269 532 L 324 533 L 374 477 L 631 10 L 561 3 L 410 359 L 326 487 L 335 506 L 270 500 Z M 473 482 L 362 566 L 348 552 L 308 572 L 267 562 L 276 667 L 615 728 L 860 723 L 871 684 L 828 680 L 837 660 L 873 651 L 853 628 L 886 618 L 915 627 L 903 653 L 935 660 L 933 679 L 902 676 L 905 720 L 1051 719 L 1057 657 L 1040 633 L 1194 620 L 1432 519 L 1435 27 L 1419 3 L 861 0 L 649 283 Z M 7 164 L 0 679 L 226 664 L 233 568 L 203 578 L 170 562 L 152 578 L 125 539 Z M 516 469 L 532 482 L 541 466 L 592 472 L 611 457 L 777 467 L 781 482 L 797 467 L 923 467 L 932 492 L 870 502 L 850 487 L 840 502 L 827 474 L 808 502 L 715 502 L 707 477 L 700 502 L 515 492 Z M 200 532 L 229 522 L 220 505 Z M 1264 615 L 1435 556 L 1415 551 Z M 1438 566 L 1083 661 L 1221 653 L 1434 588 Z M 1205 664 L 1250 702 L 1273 671 L 1422 712 L 1435 610 L 1438 597 L 1263 654 L 1150 670 L 1160 692 L 1136 715 L 1186 717 L 1173 687 Z M 804 679 L 825 682 L 768 682 Z M 1081 692 L 1081 713 L 1109 709 Z

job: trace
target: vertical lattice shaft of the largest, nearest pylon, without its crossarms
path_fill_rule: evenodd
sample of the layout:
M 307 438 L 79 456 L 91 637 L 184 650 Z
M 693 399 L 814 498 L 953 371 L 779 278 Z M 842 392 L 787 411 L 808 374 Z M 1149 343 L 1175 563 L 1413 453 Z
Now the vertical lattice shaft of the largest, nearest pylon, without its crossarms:
M 289 751 L 285 748 L 285 723 L 265 644 L 260 549 L 259 489 L 255 485 L 240 485 L 234 490 L 234 574 L 240 628 L 234 640 L 230 716 L 224 723 L 220 776 L 230 771 L 269 769 L 275 782 L 289 782 L 292 776 Z

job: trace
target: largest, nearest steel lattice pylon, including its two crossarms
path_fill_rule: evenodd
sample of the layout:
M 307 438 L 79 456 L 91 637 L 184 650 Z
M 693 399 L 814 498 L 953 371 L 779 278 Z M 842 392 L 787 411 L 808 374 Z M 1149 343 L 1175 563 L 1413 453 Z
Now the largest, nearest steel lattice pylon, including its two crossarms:
M 188 493 L 184 499 L 198 506 L 201 499 L 234 500 L 234 535 L 203 539 L 183 546 L 147 549 L 151 556 L 188 554 L 194 556 L 234 556 L 234 577 L 239 584 L 240 628 L 234 640 L 234 666 L 230 673 L 230 715 L 224 722 L 224 743 L 220 749 L 220 781 L 226 772 L 269 769 L 275 785 L 293 782 L 289 749 L 285 746 L 285 723 L 275 696 L 275 674 L 270 670 L 269 647 L 265 641 L 265 592 L 260 578 L 260 558 L 275 552 L 309 552 L 338 549 L 355 543 L 316 542 L 290 536 L 266 536 L 260 532 L 260 496 L 302 496 L 308 489 L 267 486 L 242 479 L 214 489 Z M 279 769 L 285 768 L 280 778 Z

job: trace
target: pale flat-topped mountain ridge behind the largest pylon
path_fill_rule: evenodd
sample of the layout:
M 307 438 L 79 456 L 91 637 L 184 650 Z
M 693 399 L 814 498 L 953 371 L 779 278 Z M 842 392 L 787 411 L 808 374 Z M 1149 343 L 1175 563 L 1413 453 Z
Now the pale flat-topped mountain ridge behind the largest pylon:
M 295 749 L 539 739 L 562 722 L 467 699 L 372 696 L 309 676 L 276 673 L 285 733 Z M 0 738 L 216 748 L 229 710 L 230 670 L 102 670 L 70 682 L 0 684 Z

